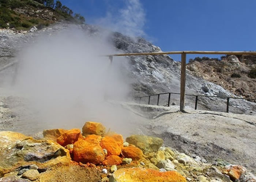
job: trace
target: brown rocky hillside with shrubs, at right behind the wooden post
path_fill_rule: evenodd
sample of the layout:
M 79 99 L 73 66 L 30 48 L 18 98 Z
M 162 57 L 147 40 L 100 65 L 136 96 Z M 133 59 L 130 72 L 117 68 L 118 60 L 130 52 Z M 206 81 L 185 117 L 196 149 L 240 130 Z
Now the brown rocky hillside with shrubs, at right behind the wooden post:
M 256 56 L 223 56 L 222 60 L 196 58 L 187 68 L 198 78 L 218 84 L 231 93 L 256 99 Z M 205 90 L 207 92 L 207 90 Z

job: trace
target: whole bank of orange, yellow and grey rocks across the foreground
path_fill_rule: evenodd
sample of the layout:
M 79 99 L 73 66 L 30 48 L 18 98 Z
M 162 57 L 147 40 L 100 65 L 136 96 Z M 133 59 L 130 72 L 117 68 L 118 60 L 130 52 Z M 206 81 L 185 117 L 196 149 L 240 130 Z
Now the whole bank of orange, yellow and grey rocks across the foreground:
M 0 132 L 0 181 L 255 181 L 245 167 L 207 163 L 163 146 L 161 138 L 106 132 L 97 122 L 44 130 L 43 138 Z

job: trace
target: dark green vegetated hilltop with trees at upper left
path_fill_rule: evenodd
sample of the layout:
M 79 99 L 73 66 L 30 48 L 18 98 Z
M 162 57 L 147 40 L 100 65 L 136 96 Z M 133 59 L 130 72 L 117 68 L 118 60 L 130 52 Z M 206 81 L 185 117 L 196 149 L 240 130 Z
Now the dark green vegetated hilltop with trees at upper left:
M 0 28 L 42 28 L 51 23 L 67 20 L 84 23 L 85 19 L 60 1 L 53 0 L 0 0 Z

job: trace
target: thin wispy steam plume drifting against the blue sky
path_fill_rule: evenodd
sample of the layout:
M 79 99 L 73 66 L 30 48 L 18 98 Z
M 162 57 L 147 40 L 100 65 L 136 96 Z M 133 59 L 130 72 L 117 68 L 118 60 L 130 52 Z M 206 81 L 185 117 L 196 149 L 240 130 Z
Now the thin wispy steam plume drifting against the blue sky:
M 107 12 L 97 19 L 97 24 L 128 36 L 144 36 L 146 13 L 139 0 L 125 0 L 125 7 L 117 12 Z

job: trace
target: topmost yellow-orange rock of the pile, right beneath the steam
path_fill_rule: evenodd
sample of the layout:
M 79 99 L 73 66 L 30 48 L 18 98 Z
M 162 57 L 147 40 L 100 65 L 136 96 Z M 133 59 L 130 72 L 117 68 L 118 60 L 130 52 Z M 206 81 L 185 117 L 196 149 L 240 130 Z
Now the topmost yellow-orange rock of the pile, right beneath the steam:
M 95 134 L 95 135 L 105 135 L 106 128 L 97 122 L 88 121 L 83 126 L 83 134 Z

